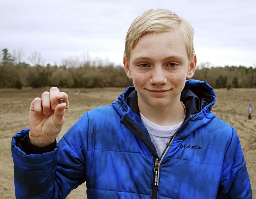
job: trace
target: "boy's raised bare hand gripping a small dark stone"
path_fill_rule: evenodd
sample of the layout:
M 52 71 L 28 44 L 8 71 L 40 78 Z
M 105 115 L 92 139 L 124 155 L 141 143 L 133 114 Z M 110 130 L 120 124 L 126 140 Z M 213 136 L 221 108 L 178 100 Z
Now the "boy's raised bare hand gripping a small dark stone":
M 58 102 L 63 99 L 63 103 Z M 68 95 L 52 87 L 44 92 L 42 98 L 35 98 L 29 110 L 29 141 L 39 147 L 47 146 L 55 141 L 68 112 Z

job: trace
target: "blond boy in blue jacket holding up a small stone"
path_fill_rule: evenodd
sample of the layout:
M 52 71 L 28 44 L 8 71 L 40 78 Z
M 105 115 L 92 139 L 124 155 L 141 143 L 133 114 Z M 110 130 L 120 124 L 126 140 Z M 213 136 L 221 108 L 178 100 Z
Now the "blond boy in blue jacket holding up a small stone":
M 212 88 L 193 77 L 193 29 L 168 10 L 136 18 L 125 41 L 133 80 L 111 106 L 85 113 L 57 144 L 68 96 L 31 103 L 12 139 L 17 198 L 252 198 L 236 131 L 210 112 Z M 58 104 L 63 99 L 64 103 Z M 166 144 L 167 143 L 167 144 Z

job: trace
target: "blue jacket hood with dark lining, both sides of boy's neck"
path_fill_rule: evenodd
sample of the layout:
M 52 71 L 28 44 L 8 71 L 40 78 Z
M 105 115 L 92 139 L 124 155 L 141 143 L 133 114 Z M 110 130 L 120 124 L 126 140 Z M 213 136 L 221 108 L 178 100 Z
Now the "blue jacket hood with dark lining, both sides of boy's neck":
M 186 81 L 185 87 L 181 92 L 180 100 L 186 107 L 186 119 L 184 123 L 189 121 L 187 122 L 187 127 L 189 127 L 190 133 L 210 122 L 215 116 L 211 112 L 215 98 L 213 88 L 206 82 L 193 79 Z M 145 128 L 140 120 L 137 91 L 134 87 L 128 87 L 112 105 L 121 117 L 127 114 L 140 127 Z M 176 139 L 182 139 L 189 134 L 188 131 L 185 134 L 182 132 L 183 130 L 180 130 Z

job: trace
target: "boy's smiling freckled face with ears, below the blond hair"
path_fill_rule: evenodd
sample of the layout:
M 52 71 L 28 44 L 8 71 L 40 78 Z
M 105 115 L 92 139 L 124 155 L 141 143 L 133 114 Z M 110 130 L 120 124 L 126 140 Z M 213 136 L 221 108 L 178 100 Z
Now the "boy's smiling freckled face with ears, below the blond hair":
M 139 108 L 172 108 L 180 104 L 180 93 L 192 78 L 196 56 L 189 62 L 182 34 L 164 31 L 143 35 L 124 57 L 124 69 L 138 92 Z

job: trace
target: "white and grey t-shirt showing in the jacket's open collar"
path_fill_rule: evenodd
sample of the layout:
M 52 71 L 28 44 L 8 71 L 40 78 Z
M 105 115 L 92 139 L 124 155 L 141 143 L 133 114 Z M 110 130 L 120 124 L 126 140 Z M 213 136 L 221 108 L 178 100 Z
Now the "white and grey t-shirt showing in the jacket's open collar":
M 180 103 L 183 105 L 184 110 L 186 110 L 185 105 L 182 102 Z M 185 115 L 186 113 L 184 114 L 184 119 L 185 119 Z M 162 153 L 166 148 L 166 144 L 170 141 L 173 134 L 180 128 L 184 119 L 182 122 L 174 126 L 161 126 L 151 122 L 146 117 L 144 117 L 141 113 L 140 113 L 140 118 L 142 123 L 148 130 L 148 134 L 151 138 L 152 143 L 156 147 L 158 156 L 161 157 Z

